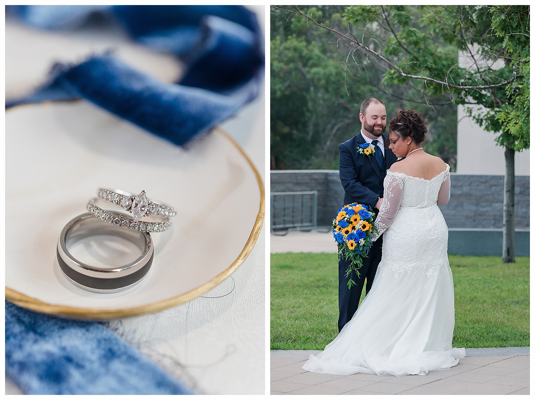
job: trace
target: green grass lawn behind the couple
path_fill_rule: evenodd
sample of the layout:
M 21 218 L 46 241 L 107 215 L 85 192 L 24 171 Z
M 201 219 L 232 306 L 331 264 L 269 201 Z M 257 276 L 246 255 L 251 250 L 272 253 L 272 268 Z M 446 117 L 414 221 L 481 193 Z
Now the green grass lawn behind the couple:
M 449 256 L 454 347 L 530 345 L 529 260 Z M 337 336 L 337 323 L 338 255 L 272 254 L 271 349 L 323 350 Z

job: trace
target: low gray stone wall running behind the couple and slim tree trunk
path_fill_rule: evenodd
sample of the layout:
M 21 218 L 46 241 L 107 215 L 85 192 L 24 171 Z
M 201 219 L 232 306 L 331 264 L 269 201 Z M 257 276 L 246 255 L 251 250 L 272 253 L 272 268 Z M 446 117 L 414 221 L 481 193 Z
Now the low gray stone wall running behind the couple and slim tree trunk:
M 330 225 L 343 205 L 338 170 L 271 171 L 271 191 L 318 191 L 318 225 Z M 452 174 L 450 201 L 441 206 L 449 228 L 502 228 L 503 176 Z M 530 177 L 515 178 L 515 227 L 530 226 Z

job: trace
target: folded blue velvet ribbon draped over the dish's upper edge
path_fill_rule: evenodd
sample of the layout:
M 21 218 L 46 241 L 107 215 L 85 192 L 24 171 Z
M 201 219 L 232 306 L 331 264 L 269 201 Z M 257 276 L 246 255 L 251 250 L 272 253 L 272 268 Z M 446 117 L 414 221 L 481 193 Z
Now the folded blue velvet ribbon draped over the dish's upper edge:
M 232 117 L 259 92 L 262 33 L 255 14 L 235 5 L 7 6 L 41 29 L 76 29 L 91 13 L 112 18 L 133 40 L 171 53 L 187 68 L 180 82 L 151 78 L 111 53 L 78 65 L 56 64 L 50 79 L 6 107 L 86 98 L 117 116 L 184 145 Z

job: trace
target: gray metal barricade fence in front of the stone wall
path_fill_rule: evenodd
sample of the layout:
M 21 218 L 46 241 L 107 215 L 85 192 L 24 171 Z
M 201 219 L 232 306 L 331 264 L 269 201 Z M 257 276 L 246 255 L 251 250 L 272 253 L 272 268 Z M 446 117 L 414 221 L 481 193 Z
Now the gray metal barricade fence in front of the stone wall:
M 318 191 L 271 192 L 271 233 L 286 235 L 289 230 L 315 229 L 317 226 Z M 275 233 L 273 229 L 286 229 Z

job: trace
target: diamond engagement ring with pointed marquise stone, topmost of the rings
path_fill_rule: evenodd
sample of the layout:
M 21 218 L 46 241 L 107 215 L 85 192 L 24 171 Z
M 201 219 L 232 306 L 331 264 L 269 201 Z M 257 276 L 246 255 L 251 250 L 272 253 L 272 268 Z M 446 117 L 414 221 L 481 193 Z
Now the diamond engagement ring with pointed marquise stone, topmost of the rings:
M 98 189 L 98 197 L 120 205 L 131 213 L 136 221 L 150 216 L 174 217 L 177 213 L 177 209 L 174 207 L 150 201 L 144 190 L 136 196 L 124 190 L 100 188 Z

